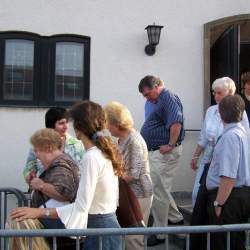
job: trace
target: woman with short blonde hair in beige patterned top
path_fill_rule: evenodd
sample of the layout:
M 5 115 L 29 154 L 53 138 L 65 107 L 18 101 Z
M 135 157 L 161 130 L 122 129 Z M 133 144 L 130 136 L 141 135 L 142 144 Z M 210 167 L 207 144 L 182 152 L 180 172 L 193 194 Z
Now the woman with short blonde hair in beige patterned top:
M 147 145 L 134 129 L 134 121 L 128 108 L 119 102 L 110 102 L 104 108 L 108 128 L 118 138 L 118 146 L 125 163 L 123 179 L 129 184 L 138 198 L 143 220 L 147 225 L 153 199 L 152 181 L 149 173 Z M 143 236 L 126 237 L 126 249 L 143 249 Z

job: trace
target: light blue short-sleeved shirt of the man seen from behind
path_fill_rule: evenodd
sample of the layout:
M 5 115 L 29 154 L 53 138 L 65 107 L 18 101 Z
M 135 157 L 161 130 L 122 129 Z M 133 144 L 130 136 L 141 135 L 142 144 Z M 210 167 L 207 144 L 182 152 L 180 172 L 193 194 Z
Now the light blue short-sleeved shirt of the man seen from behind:
M 206 180 L 208 190 L 219 187 L 222 176 L 235 179 L 235 187 L 250 186 L 249 143 L 249 130 L 240 123 L 225 126 L 214 148 Z

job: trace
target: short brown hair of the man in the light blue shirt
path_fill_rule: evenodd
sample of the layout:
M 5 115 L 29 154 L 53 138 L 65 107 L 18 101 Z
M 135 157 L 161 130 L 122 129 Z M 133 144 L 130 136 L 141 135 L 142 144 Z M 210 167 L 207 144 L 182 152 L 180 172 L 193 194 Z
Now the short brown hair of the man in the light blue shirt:
M 245 102 L 239 95 L 229 95 L 219 104 L 219 112 L 225 123 L 240 122 L 245 110 Z

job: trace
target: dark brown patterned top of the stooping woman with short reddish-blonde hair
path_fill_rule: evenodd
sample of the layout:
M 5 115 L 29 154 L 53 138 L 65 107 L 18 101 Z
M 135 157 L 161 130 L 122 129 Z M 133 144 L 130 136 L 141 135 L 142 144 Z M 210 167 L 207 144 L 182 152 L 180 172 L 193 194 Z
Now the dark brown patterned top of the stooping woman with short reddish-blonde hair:
M 56 157 L 39 178 L 52 184 L 56 191 L 65 197 L 68 202 L 74 201 L 79 185 L 80 172 L 76 162 L 69 155 L 61 154 Z M 50 198 L 35 190 L 32 193 L 32 206 L 40 207 Z

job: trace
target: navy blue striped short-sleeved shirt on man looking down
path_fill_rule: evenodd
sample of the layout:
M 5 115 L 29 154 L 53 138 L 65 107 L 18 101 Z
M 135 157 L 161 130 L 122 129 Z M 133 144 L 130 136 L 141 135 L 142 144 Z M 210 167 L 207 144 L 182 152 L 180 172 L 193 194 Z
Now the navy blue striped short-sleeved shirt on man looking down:
M 179 97 L 163 89 L 154 105 L 154 109 L 141 128 L 141 135 L 147 143 L 148 150 L 154 150 L 169 143 L 170 127 L 174 123 L 182 124 L 177 140 L 177 142 L 181 142 L 184 139 L 184 118 Z

